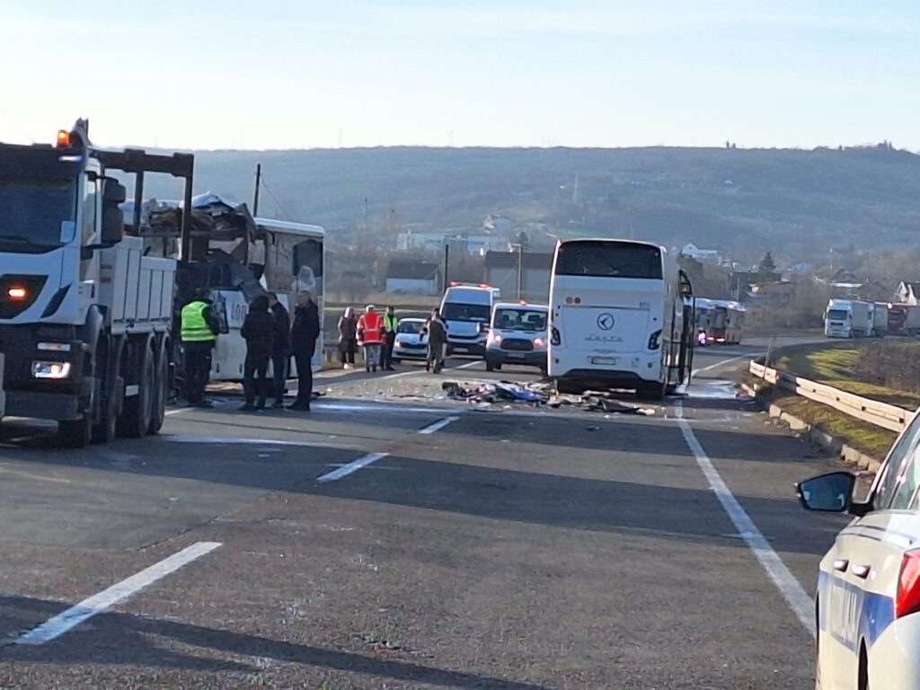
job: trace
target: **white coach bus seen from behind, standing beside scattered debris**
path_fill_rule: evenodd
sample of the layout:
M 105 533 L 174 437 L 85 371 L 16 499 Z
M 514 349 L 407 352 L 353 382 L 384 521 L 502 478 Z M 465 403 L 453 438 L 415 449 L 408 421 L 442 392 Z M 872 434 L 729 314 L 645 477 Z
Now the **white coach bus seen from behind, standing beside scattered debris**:
M 549 287 L 549 376 L 561 393 L 631 388 L 660 399 L 689 383 L 693 289 L 663 247 L 559 242 Z

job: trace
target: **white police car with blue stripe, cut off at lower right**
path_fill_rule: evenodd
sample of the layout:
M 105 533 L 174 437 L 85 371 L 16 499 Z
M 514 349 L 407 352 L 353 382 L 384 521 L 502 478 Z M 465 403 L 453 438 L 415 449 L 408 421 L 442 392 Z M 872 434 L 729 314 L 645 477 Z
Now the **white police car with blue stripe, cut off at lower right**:
M 920 414 L 865 501 L 855 499 L 856 484 L 832 472 L 797 485 L 806 509 L 854 516 L 819 570 L 816 687 L 920 689 Z

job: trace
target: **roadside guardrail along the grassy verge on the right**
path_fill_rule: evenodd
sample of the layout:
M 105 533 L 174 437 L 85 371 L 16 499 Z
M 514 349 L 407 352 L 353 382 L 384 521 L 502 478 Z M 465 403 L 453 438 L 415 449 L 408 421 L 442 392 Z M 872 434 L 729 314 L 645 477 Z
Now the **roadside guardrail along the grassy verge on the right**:
M 902 431 L 914 420 L 916 414 L 916 412 L 899 408 L 896 405 L 889 405 L 868 397 L 859 397 L 831 385 L 819 384 L 788 372 L 770 369 L 763 362 L 756 360 L 751 362 L 750 372 L 764 379 L 768 384 L 777 385 L 796 395 L 837 409 L 857 420 L 868 421 L 870 424 L 890 431 Z

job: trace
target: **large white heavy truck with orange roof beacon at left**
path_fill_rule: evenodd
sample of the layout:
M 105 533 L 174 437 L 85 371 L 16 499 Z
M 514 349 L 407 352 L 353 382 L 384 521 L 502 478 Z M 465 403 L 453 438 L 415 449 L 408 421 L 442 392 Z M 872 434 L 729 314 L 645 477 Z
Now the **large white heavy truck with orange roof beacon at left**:
M 189 208 L 193 167 L 191 155 L 97 149 L 86 121 L 53 146 L 0 144 L 6 415 L 56 420 L 75 448 L 160 430 L 176 261 L 125 236 L 126 190 L 109 171 L 134 175 L 138 208 L 145 173 L 183 178 Z

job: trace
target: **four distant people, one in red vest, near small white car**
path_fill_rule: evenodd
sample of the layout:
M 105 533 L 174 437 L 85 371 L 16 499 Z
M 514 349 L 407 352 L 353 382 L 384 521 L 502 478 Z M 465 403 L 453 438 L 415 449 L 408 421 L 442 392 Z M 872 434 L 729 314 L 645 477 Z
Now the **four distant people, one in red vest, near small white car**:
M 355 316 L 351 306 L 346 307 L 339 317 L 339 362 L 342 368 L 354 367 L 355 354 L 362 348 L 364 370 L 376 372 L 393 372 L 393 347 L 397 339 L 399 319 L 396 310 L 387 306 L 383 316 L 377 313 L 374 305 L 364 307 L 361 316 Z M 444 355 L 447 349 L 447 325 L 441 318 L 440 311 L 431 310 L 431 316 L 425 323 L 422 333 L 428 335 L 428 362 L 426 371 L 433 368 L 435 373 L 443 369 Z

